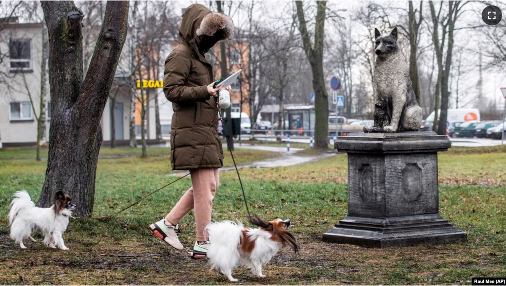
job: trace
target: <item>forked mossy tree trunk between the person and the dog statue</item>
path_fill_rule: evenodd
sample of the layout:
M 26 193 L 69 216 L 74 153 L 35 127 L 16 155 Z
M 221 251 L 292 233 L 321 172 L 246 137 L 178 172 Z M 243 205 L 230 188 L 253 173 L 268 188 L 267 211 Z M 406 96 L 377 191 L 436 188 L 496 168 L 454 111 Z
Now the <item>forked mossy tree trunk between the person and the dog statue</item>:
M 315 43 L 311 46 L 307 22 L 301 1 L 296 1 L 299 30 L 304 51 L 313 73 L 313 90 L 315 92 L 315 148 L 328 148 L 328 95 L 323 76 L 323 38 L 326 1 L 317 1 Z

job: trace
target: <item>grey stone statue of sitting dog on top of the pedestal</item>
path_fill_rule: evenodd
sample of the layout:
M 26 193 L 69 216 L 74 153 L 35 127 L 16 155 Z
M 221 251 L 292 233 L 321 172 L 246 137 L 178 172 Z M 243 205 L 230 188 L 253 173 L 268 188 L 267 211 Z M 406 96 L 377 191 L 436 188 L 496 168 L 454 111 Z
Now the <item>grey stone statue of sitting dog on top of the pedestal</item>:
M 397 28 L 382 35 L 374 29 L 377 55 L 372 77 L 374 125 L 364 132 L 418 131 L 421 108 L 409 79 L 408 65 L 397 46 Z

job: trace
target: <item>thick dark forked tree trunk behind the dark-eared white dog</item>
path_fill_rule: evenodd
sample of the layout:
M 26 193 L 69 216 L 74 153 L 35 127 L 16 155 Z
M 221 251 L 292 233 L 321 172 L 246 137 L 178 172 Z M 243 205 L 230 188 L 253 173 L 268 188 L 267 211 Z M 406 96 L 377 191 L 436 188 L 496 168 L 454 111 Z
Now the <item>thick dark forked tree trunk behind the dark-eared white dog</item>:
M 88 74 L 83 80 L 82 12 L 73 2 L 43 1 L 49 31 L 51 133 L 48 168 L 39 207 L 50 207 L 62 190 L 75 213 L 93 213 L 95 177 L 102 144 L 100 119 L 126 37 L 129 2 L 108 2 Z

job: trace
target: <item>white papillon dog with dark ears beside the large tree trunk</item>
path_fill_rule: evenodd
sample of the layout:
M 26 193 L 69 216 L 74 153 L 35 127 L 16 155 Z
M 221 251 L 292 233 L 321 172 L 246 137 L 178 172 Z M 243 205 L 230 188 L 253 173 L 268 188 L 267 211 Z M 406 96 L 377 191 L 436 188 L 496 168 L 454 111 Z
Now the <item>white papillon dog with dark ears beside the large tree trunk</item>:
M 36 242 L 30 234 L 35 230 L 40 230 L 44 235 L 44 245 L 68 250 L 63 243 L 62 234 L 67 229 L 68 218 L 75 209 L 71 201 L 69 196 L 58 191 L 52 207 L 37 208 L 26 190 L 14 193 L 9 212 L 11 239 L 16 241 L 22 249 L 26 249 L 23 241 Z

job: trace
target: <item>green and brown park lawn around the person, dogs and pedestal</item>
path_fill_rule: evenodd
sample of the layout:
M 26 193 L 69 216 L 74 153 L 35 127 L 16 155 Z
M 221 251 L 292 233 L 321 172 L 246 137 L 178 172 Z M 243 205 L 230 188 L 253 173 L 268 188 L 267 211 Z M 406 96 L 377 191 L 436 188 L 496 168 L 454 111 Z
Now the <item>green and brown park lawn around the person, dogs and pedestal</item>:
M 264 267 L 264 279 L 251 277 L 244 267 L 235 270 L 234 277 L 242 284 L 293 285 L 471 284 L 472 277 L 504 277 L 506 182 L 501 171 L 506 169 L 506 153 L 484 150 L 450 149 L 439 155 L 440 214 L 468 233 L 466 244 L 366 249 L 321 242 L 321 234 L 347 215 L 346 155 L 292 167 L 241 170 L 251 212 L 290 218 L 301 251 L 280 251 Z M 168 176 L 168 153 L 159 152 L 159 157 L 147 159 L 100 159 L 94 215 L 111 214 L 174 179 Z M 257 156 L 272 154 L 234 154 L 241 162 Z M 225 164 L 230 161 L 227 157 Z M 36 200 L 45 170 L 46 162 L 0 162 L 1 284 L 234 284 L 209 271 L 206 261 L 189 258 L 189 250 L 175 251 L 147 229 L 170 211 L 190 186 L 189 178 L 111 219 L 71 220 L 64 234 L 68 252 L 40 243 L 26 243 L 29 250 L 20 250 L 8 237 L 9 202 L 21 188 Z M 220 183 L 213 219 L 246 222 L 235 171 L 221 172 Z M 189 247 L 195 237 L 192 212 L 181 227 L 181 241 Z M 40 240 L 40 234 L 35 237 Z

